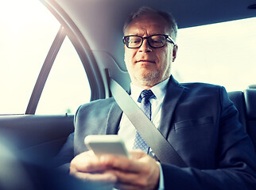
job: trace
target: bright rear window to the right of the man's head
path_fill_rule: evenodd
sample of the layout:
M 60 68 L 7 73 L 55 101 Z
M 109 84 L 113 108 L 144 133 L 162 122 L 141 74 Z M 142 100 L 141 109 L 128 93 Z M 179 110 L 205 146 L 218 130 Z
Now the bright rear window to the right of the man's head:
M 243 90 L 256 83 L 256 17 L 181 28 L 173 73 L 179 82 Z

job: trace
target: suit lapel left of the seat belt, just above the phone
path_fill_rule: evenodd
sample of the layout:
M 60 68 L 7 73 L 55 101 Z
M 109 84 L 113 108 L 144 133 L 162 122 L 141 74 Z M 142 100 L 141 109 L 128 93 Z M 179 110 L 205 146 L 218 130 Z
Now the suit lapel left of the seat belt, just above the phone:
M 114 135 L 118 133 L 118 127 L 122 118 L 122 109 L 114 101 L 107 115 L 106 134 Z

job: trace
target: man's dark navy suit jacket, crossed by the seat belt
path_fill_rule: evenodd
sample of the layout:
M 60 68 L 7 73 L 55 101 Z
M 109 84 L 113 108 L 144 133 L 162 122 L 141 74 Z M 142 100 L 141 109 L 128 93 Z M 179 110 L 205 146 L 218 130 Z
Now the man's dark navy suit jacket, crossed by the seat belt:
M 60 157 L 68 162 L 87 150 L 86 135 L 117 134 L 121 116 L 113 98 L 80 106 Z M 256 189 L 254 148 L 223 87 L 171 77 L 159 130 L 188 165 L 161 163 L 165 189 Z

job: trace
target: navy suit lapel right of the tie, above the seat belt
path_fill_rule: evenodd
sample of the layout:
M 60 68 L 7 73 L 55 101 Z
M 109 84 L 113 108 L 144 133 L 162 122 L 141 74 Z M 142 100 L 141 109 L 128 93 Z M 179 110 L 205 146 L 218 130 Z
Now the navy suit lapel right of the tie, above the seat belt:
M 173 112 L 183 92 L 184 87 L 180 86 L 180 83 L 176 82 L 173 76 L 171 76 L 166 88 L 165 99 L 161 110 L 161 124 L 159 127 L 159 131 L 161 131 L 161 134 L 165 136 L 165 139 L 167 139 L 169 134 L 169 127 L 173 119 Z

